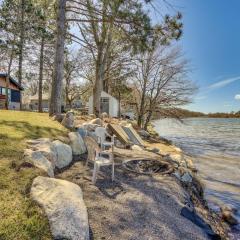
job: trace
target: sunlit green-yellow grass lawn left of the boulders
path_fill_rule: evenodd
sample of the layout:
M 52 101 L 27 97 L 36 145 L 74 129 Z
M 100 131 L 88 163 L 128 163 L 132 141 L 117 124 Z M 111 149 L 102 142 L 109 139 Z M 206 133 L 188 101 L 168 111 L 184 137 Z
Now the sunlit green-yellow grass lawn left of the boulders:
M 55 138 L 67 130 L 46 113 L 0 110 L 0 239 L 51 239 L 47 218 L 29 198 L 32 180 L 43 173 L 18 168 L 27 139 Z

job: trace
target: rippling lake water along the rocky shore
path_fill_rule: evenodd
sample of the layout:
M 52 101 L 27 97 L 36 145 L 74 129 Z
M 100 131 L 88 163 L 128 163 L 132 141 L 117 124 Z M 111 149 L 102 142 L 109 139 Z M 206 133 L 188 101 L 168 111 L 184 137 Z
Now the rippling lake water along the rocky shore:
M 240 119 L 163 119 L 153 124 L 160 136 L 192 156 L 209 206 L 218 211 L 223 204 L 231 205 L 240 221 Z M 240 239 L 240 226 L 235 230 Z

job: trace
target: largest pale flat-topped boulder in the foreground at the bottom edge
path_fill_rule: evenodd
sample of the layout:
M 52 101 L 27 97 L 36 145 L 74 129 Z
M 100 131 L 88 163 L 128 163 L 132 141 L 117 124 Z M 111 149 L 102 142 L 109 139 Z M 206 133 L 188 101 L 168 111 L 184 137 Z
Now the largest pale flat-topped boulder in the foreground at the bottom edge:
M 33 181 L 31 197 L 44 209 L 54 239 L 89 239 L 87 208 L 78 185 L 39 176 Z

